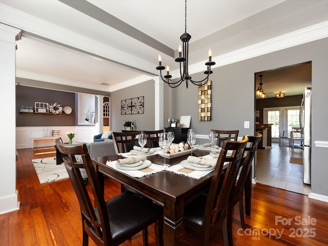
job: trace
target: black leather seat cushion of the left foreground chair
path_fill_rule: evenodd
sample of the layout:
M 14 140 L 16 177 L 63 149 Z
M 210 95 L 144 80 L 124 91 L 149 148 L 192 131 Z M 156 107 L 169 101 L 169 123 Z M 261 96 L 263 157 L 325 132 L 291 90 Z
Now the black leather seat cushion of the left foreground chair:
M 127 233 L 137 233 L 155 222 L 162 208 L 134 192 L 124 192 L 106 201 L 111 234 L 117 239 Z M 97 208 L 95 209 L 98 216 Z

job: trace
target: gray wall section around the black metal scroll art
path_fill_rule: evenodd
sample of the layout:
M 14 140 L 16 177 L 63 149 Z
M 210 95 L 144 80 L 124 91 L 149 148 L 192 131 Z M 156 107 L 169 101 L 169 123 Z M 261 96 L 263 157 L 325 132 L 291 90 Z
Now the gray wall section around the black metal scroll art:
M 144 96 L 144 114 L 121 115 L 121 100 Z M 133 120 L 135 130 L 155 130 L 154 80 L 111 92 L 111 131 L 120 132 L 125 120 Z

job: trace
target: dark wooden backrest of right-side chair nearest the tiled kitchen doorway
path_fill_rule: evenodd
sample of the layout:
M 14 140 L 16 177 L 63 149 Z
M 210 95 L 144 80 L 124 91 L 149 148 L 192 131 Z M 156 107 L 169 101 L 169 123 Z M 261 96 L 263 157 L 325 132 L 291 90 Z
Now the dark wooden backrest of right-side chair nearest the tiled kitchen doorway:
M 247 176 L 250 172 L 252 161 L 254 159 L 258 144 L 262 138 L 262 134 L 258 134 L 257 136 L 247 136 L 248 137 L 248 143 L 247 146 L 244 149 L 244 154 L 246 154 L 243 161 L 240 162 L 240 172 L 238 181 L 236 182 L 236 185 L 233 186 L 231 191 L 230 198 L 234 199 L 235 197 L 239 196 L 242 192 L 242 189 L 244 188 L 245 181 L 247 179 Z

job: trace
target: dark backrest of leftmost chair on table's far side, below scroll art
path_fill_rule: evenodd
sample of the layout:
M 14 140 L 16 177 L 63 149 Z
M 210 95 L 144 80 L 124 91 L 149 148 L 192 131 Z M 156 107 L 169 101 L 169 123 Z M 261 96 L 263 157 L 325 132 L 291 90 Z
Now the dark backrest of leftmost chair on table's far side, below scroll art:
M 138 144 L 138 135 L 141 131 L 113 132 L 113 140 L 116 154 L 126 153 Z

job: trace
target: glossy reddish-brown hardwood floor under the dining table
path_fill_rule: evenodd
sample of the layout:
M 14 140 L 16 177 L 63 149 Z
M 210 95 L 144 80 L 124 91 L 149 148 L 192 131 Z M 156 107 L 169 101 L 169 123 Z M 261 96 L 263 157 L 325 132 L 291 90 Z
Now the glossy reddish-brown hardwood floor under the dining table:
M 18 150 L 20 209 L 0 215 L 1 246 L 82 244 L 80 210 L 69 179 L 40 185 L 32 165 L 31 159 L 55 156 L 54 153 L 36 154 L 53 151 L 53 148 Z M 234 209 L 234 245 L 328 244 L 328 203 L 259 183 L 252 189 L 251 216 L 245 217 L 247 230 L 240 229 L 238 205 Z M 119 192 L 119 183 L 106 178 L 105 198 Z M 155 245 L 154 238 L 152 226 L 149 245 Z M 89 245 L 95 245 L 89 241 Z M 222 244 L 221 233 L 213 235 L 210 245 Z M 141 233 L 122 245 L 142 245 Z

